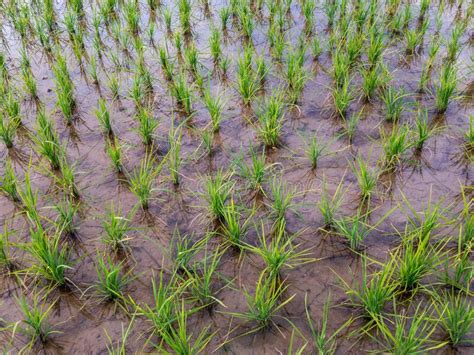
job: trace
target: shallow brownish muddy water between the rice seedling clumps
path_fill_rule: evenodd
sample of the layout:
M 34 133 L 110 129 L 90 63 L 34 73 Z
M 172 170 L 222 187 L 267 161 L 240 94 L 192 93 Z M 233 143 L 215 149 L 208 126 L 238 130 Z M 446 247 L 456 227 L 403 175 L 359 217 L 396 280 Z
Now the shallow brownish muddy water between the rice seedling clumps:
M 144 1 L 143 1 L 144 3 Z M 172 2 L 165 1 L 165 5 Z M 200 49 L 200 60 L 207 70 L 212 71 L 213 63 L 208 50 L 209 28 L 212 24 L 218 24 L 218 9 L 222 7 L 220 1 L 212 1 L 211 15 L 207 16 L 202 8 L 195 6 L 193 14 L 193 36 Z M 176 6 L 172 6 L 173 11 Z M 145 9 L 142 4 L 142 9 Z M 416 6 L 414 6 L 416 8 Z M 56 4 L 58 14 L 63 14 L 65 5 L 61 2 Z M 430 27 L 425 36 L 424 50 L 419 56 L 408 58 L 404 52 L 402 39 L 387 38 L 389 45 L 385 52 L 385 62 L 393 72 L 392 84 L 396 87 L 404 87 L 409 92 L 416 91 L 421 66 L 426 59 L 428 39 L 434 33 L 434 18 L 437 5 L 433 4 L 430 10 Z M 448 37 L 452 29 L 457 6 L 447 6 L 443 17 L 442 35 Z M 315 33 L 321 36 L 322 42 L 327 43 L 328 33 L 326 29 L 327 20 L 322 6 L 316 11 Z M 90 22 L 91 14 L 86 19 Z M 174 13 L 174 18 L 177 14 Z M 144 30 L 149 20 L 147 11 L 142 11 L 141 28 Z M 303 18 L 297 2 L 291 11 L 292 28 L 288 31 L 289 40 L 296 43 L 296 38 L 303 29 Z M 174 24 L 176 28 L 178 24 Z M 472 25 L 472 24 L 471 24 Z M 19 39 L 14 33 L 8 21 L 2 22 L 4 45 L 7 45 L 8 67 L 14 76 L 18 86 L 21 85 L 19 72 Z M 89 27 L 90 26 L 89 23 Z M 255 49 L 258 53 L 265 53 L 270 62 L 268 42 L 265 34 L 268 23 L 265 19 L 256 23 L 253 37 Z M 155 43 L 164 41 L 164 24 L 157 20 L 157 32 Z M 397 171 L 389 177 L 381 179 L 377 187 L 377 193 L 372 203 L 375 210 L 371 214 L 371 221 L 375 223 L 381 216 L 396 206 L 405 206 L 405 196 L 416 211 L 423 210 L 428 201 L 442 201 L 447 208 L 446 214 L 450 218 L 456 218 L 462 208 L 460 186 L 471 186 L 473 182 L 473 166 L 462 155 L 463 132 L 468 128 L 468 117 L 474 113 L 474 101 L 472 100 L 472 72 L 468 66 L 472 66 L 472 26 L 462 38 L 463 49 L 458 59 L 460 66 L 460 81 L 458 89 L 466 93 L 462 100 L 450 104 L 448 111 L 442 117 L 437 116 L 430 109 L 429 119 L 432 124 L 441 128 L 426 143 L 421 156 L 413 152 L 406 153 L 404 163 Z M 91 35 L 92 36 L 92 35 Z M 91 37 L 89 36 L 89 37 Z M 31 43 L 28 47 L 31 58 L 32 69 L 38 82 L 38 95 L 48 111 L 51 112 L 56 125 L 61 133 L 61 139 L 67 143 L 67 154 L 71 162 L 75 163 L 77 181 L 81 193 L 80 213 L 75 221 L 78 231 L 74 247 L 74 269 L 68 273 L 68 277 L 77 286 L 72 292 L 54 292 L 50 298 L 56 300 L 54 314 L 51 319 L 53 324 L 61 333 L 52 336 L 52 341 L 44 350 L 48 353 L 90 353 L 98 354 L 106 352 L 106 333 L 112 338 L 118 338 L 122 326 L 128 324 L 129 319 L 119 309 L 113 306 L 103 305 L 91 297 L 88 288 L 96 280 L 94 260 L 96 250 L 104 250 L 100 241 L 102 227 L 100 217 L 105 213 L 111 202 L 120 205 L 123 211 L 130 211 L 136 204 L 135 196 L 128 190 L 124 176 L 115 174 L 109 159 L 105 153 L 104 137 L 101 134 L 94 110 L 97 107 L 99 97 L 107 98 L 111 107 L 113 126 L 119 139 L 126 145 L 127 171 L 131 171 L 139 165 L 140 159 L 145 155 L 145 149 L 140 143 L 136 133 L 136 122 L 134 120 L 135 108 L 133 103 L 126 98 L 131 85 L 131 75 L 127 68 L 120 72 L 121 98 L 112 102 L 111 93 L 108 89 L 107 75 L 113 70 L 110 58 L 104 57 L 100 63 L 99 85 L 93 85 L 87 78 L 72 53 L 71 47 L 66 44 L 67 34 L 61 35 L 63 47 L 69 59 L 69 71 L 75 84 L 75 98 L 77 100 L 78 112 L 73 126 L 66 126 L 61 113 L 55 107 L 56 96 L 54 94 L 53 75 L 46 56 L 43 54 L 38 43 Z M 104 53 L 117 51 L 118 56 L 126 62 L 126 54 L 117 50 L 116 43 L 103 31 L 102 38 L 107 46 Z M 88 52 L 93 53 L 91 43 L 88 43 Z M 240 152 L 244 151 L 250 144 L 259 146 L 260 141 L 256 130 L 252 125 L 255 117 L 252 110 L 242 107 L 239 95 L 235 89 L 236 58 L 242 48 L 242 39 L 236 32 L 235 26 L 231 26 L 226 37 L 224 53 L 232 60 L 232 70 L 229 72 L 227 81 L 221 80 L 217 75 L 211 75 L 211 85 L 215 90 L 224 93 L 226 99 L 225 120 L 221 130 L 214 140 L 214 154 L 208 157 L 202 150 L 200 131 L 209 123 L 209 116 L 200 102 L 199 93 L 196 91 L 194 108 L 196 110 L 191 123 L 183 129 L 183 146 L 181 156 L 184 159 L 182 165 L 182 179 L 178 188 L 173 187 L 168 170 L 165 168 L 157 180 L 159 190 L 156 192 L 151 203 L 148 214 L 138 213 L 133 221 L 136 230 L 132 233 L 130 256 L 127 258 L 130 268 L 133 268 L 137 278 L 129 285 L 127 292 L 141 303 L 151 302 L 150 279 L 162 268 L 170 266 L 171 238 L 173 230 L 178 228 L 182 234 L 188 233 L 195 238 L 204 235 L 210 223 L 205 216 L 205 201 L 202 198 L 203 177 L 213 174 L 219 168 L 228 169 L 232 161 Z M 172 53 L 173 54 L 173 53 Z M 438 55 L 436 65 L 442 62 L 445 48 L 442 46 Z M 174 54 L 173 54 L 174 55 Z M 159 153 L 167 149 L 167 134 L 171 126 L 174 104 L 167 94 L 167 82 L 159 66 L 159 57 L 156 48 L 148 44 L 146 50 L 146 64 L 154 77 L 154 114 L 159 120 L 157 146 Z M 131 64 L 133 67 L 133 64 Z M 283 73 L 278 63 L 273 63 L 269 78 L 266 82 L 265 92 L 271 93 L 272 89 L 282 83 Z M 282 318 L 276 319 L 279 329 L 271 329 L 265 333 L 256 335 L 240 336 L 248 331 L 250 325 L 236 319 L 232 319 L 227 312 L 244 311 L 246 308 L 245 297 L 242 290 L 253 290 L 262 263 L 258 258 L 245 255 L 243 259 L 233 253 L 226 253 L 223 257 L 220 271 L 226 277 L 234 280 L 234 288 L 225 288 L 219 298 L 226 307 L 218 306 L 216 312 L 208 314 L 200 312 L 191 317 L 190 328 L 196 329 L 211 324 L 212 331 L 216 336 L 212 340 L 209 351 L 216 349 L 226 340 L 225 346 L 220 347 L 219 353 L 235 354 L 262 354 L 280 353 L 287 351 L 291 326 L 283 319 L 289 319 L 306 338 L 310 338 L 309 328 L 305 320 L 305 295 L 311 315 L 319 320 L 322 316 L 322 305 L 327 296 L 332 296 L 332 308 L 330 310 L 330 330 L 334 331 L 347 319 L 354 315 L 354 311 L 342 305 L 346 296 L 340 289 L 338 276 L 350 280 L 353 274 L 360 272 L 361 261 L 354 253 L 334 235 L 329 235 L 320 230 L 322 227 L 322 216 L 317 209 L 322 187 L 327 184 L 330 192 L 335 191 L 340 181 L 347 189 L 342 205 L 341 214 L 350 215 L 358 206 L 358 188 L 355 176 L 350 164 L 357 154 L 362 154 L 373 169 L 379 169 L 377 160 L 382 151 L 380 140 L 380 127 L 389 125 L 384 123 L 384 110 L 380 100 L 370 104 L 354 101 L 349 113 L 364 109 L 363 118 L 360 121 L 352 145 L 347 139 L 340 136 L 343 124 L 334 115 L 331 105 L 329 87 L 332 85 L 330 77 L 331 58 L 327 50 L 323 51 L 318 62 L 313 62 L 310 51 L 306 56 L 305 67 L 310 75 L 303 92 L 301 102 L 297 108 L 288 110 L 285 116 L 282 135 L 282 147 L 267 151 L 268 164 L 274 163 L 273 174 L 281 175 L 282 180 L 298 192 L 295 199 L 295 211 L 288 215 L 288 230 L 299 232 L 298 241 L 302 248 L 312 248 L 315 258 L 320 260 L 313 264 L 303 265 L 285 272 L 284 277 L 290 284 L 287 291 L 288 296 L 295 294 L 293 301 L 284 308 Z M 471 69 L 472 70 L 472 69 Z M 357 86 L 360 78 L 355 78 L 354 86 Z M 261 94 L 260 99 L 264 94 Z M 415 95 L 413 95 L 415 97 Z M 410 96 L 407 101 L 413 103 L 415 99 Z M 423 94 L 417 100 L 426 107 L 434 107 L 433 98 L 430 94 Z M 258 100 L 257 100 L 258 101 Z M 255 105 L 255 110 L 258 105 Z M 22 103 L 22 119 L 25 130 L 33 132 L 36 106 L 33 102 L 25 99 Z M 414 124 L 415 111 L 413 105 L 407 104 L 401 120 Z M 305 142 L 317 134 L 318 139 L 328 145 L 327 153 L 319 161 L 315 171 L 311 170 L 310 163 L 305 157 Z M 60 194 L 55 190 L 51 179 L 45 174 L 43 163 L 34 150 L 34 144 L 25 132 L 19 132 L 13 150 L 7 151 L 4 145 L 0 147 L 2 160 L 10 155 L 14 160 L 15 170 L 21 177 L 28 169 L 32 173 L 33 186 L 39 191 L 40 206 L 42 213 L 51 214 L 48 206 L 60 201 Z M 159 155 L 159 154 L 158 154 Z M 3 171 L 2 171 L 3 173 Z M 245 181 L 235 178 L 236 196 L 240 202 L 251 207 L 254 199 L 245 190 Z M 271 176 L 269 176 L 269 181 Z M 268 184 L 265 185 L 268 191 Z M 472 191 L 471 191 L 472 192 Z M 472 196 L 472 195 L 470 195 Z M 264 199 L 265 202 L 265 199 Z M 384 260 L 390 248 L 398 245 L 396 229 L 403 229 L 407 216 L 403 211 L 405 208 L 396 209 L 376 231 L 367 238 L 366 253 L 377 260 Z M 0 224 L 13 230 L 12 240 L 22 242 L 28 238 L 27 223 L 20 211 L 4 196 L 0 196 Z M 264 207 L 261 207 L 263 215 Z M 454 227 L 447 227 L 440 231 L 440 236 L 456 235 Z M 256 242 L 256 233 L 251 232 L 248 236 L 250 243 Z M 215 241 L 216 245 L 218 241 Z M 30 263 L 28 257 L 19 249 L 14 250 L 20 267 L 27 267 Z M 172 258 L 172 257 L 171 257 Z M 19 312 L 15 297 L 20 293 L 28 292 L 11 278 L 4 276 L 1 280 L 0 313 L 1 318 L 16 322 L 19 320 Z M 355 327 L 338 336 L 338 352 L 360 353 L 365 350 L 373 350 L 376 344 L 369 339 L 360 339 L 354 345 L 354 340 L 347 339 Z M 152 348 L 145 347 L 149 334 L 149 324 L 142 319 L 137 319 L 132 336 L 129 341 L 130 351 L 151 351 Z M 230 335 L 228 335 L 230 332 Z M 18 335 L 15 340 L 4 334 L 6 349 L 13 352 L 24 345 L 24 339 Z M 297 337 L 296 343 L 303 342 Z M 442 349 L 442 352 L 447 352 Z M 459 349 L 463 353 L 469 353 L 469 348 Z

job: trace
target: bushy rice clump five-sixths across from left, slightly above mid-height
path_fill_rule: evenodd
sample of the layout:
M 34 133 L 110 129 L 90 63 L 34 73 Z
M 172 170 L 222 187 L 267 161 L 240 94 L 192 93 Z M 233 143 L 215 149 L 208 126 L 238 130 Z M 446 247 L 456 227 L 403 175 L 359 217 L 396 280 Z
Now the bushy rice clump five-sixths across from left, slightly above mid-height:
M 384 165 L 388 168 L 393 168 L 401 161 L 402 154 L 411 146 L 411 143 L 408 141 L 410 129 L 407 125 L 394 126 L 389 136 L 383 130 L 380 132 L 385 154 Z

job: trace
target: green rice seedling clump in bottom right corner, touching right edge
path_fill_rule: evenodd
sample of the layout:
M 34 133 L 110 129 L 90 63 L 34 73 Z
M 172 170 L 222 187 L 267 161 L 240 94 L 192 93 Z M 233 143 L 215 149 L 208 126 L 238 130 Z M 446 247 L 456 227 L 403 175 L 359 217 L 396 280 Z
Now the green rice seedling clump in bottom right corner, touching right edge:
M 438 296 L 434 303 L 439 314 L 439 322 L 453 347 L 463 344 L 474 324 L 474 308 L 462 293 Z

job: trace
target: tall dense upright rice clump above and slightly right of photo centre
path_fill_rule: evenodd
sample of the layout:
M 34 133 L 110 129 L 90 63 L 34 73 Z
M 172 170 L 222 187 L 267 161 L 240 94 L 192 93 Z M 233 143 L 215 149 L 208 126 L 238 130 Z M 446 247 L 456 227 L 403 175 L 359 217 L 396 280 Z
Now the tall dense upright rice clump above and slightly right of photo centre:
M 283 127 L 285 103 L 282 93 L 270 96 L 262 111 L 258 114 L 258 133 L 268 148 L 277 147 L 280 143 Z

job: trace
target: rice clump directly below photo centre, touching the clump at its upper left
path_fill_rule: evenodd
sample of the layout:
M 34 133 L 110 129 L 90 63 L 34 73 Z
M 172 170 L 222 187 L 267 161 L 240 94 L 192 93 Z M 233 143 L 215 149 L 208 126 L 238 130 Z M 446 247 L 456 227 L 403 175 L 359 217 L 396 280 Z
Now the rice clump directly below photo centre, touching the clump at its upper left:
M 251 215 L 241 222 L 242 213 L 236 207 L 234 199 L 231 198 L 229 204 L 224 208 L 222 219 L 222 235 L 234 248 L 241 249 L 243 239 L 247 235 L 250 227 Z

